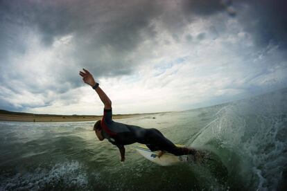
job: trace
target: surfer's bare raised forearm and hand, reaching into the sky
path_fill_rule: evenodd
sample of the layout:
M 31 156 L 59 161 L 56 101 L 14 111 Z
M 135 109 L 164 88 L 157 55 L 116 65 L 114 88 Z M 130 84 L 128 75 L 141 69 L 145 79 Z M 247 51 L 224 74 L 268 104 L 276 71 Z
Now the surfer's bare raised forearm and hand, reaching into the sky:
M 96 81 L 94 80 L 94 77 L 89 71 L 82 69 L 83 71 L 80 71 L 80 76 L 82 76 L 82 80 L 89 84 L 91 87 L 94 87 L 96 85 Z M 98 93 L 98 97 L 102 100 L 103 104 L 105 105 L 105 109 L 112 109 L 112 101 L 109 97 L 105 94 L 105 92 L 100 88 L 97 87 L 96 93 Z

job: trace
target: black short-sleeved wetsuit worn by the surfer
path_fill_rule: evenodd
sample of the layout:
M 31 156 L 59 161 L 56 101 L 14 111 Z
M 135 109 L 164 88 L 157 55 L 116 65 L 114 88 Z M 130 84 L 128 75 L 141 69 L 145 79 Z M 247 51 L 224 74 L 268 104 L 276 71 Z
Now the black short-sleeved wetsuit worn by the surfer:
M 176 156 L 194 154 L 193 149 L 176 147 L 171 140 L 165 138 L 157 129 L 144 129 L 134 125 L 114 122 L 112 120 L 112 109 L 104 109 L 101 127 L 103 129 L 103 137 L 119 148 L 123 147 L 123 145 L 141 143 L 145 144 L 151 151 L 162 150 Z

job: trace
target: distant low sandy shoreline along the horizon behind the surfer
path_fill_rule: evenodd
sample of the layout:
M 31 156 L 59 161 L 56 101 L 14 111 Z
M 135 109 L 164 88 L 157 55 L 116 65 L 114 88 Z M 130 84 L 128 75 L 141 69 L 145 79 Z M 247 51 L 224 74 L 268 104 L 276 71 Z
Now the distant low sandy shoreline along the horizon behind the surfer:
M 135 113 L 135 114 L 116 114 L 113 119 L 132 118 L 135 116 L 152 115 L 155 113 Z M 34 114 L 6 111 L 0 109 L 0 120 L 2 121 L 21 121 L 21 122 L 72 122 L 72 121 L 93 121 L 101 120 L 102 116 L 82 116 L 82 115 L 50 115 Z

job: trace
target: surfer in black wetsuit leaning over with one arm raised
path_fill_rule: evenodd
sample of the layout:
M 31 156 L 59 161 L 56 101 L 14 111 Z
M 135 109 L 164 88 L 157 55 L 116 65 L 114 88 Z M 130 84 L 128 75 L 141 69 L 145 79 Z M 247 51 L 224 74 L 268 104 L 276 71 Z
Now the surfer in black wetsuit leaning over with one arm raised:
M 126 125 L 112 120 L 112 101 L 107 97 L 105 92 L 95 82 L 94 77 L 89 71 L 83 69 L 80 71 L 82 80 L 89 84 L 98 93 L 101 101 L 104 104 L 104 114 L 102 120 L 98 120 L 94 125 L 94 131 L 99 140 L 105 138 L 116 145 L 121 153 L 121 161 L 125 161 L 125 147 L 132 143 L 145 144 L 151 151 L 159 150 L 158 157 L 161 157 L 164 152 L 170 152 L 175 156 L 192 154 L 195 156 L 197 153 L 195 149 L 187 147 L 177 147 L 171 140 L 168 140 L 157 129 L 145 129 L 135 125 Z

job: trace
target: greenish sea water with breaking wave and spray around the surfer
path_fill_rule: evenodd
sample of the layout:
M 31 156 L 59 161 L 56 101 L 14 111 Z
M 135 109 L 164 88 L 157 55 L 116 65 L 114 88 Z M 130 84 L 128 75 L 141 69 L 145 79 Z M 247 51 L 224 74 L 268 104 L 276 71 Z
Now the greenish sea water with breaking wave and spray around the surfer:
M 162 167 L 136 143 L 121 163 L 94 122 L 0 122 L 0 190 L 287 190 L 287 89 L 116 121 L 157 128 L 214 160 Z

